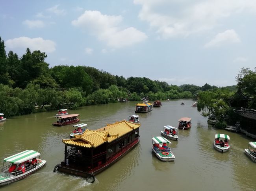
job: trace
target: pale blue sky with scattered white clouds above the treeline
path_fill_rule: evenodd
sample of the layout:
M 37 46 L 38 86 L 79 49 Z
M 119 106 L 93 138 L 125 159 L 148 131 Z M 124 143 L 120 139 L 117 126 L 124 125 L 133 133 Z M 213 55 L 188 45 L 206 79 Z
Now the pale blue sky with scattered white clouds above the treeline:
M 0 0 L 6 53 L 170 85 L 236 85 L 256 67 L 255 0 Z

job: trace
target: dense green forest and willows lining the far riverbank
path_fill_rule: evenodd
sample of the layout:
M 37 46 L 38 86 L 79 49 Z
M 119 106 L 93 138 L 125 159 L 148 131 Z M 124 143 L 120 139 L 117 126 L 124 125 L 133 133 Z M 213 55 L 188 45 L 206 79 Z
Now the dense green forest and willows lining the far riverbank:
M 207 83 L 202 87 L 191 84 L 169 85 L 145 77 L 114 76 L 81 65 L 57 65 L 51 68 L 45 62 L 46 57 L 44 52 L 31 52 L 28 48 L 20 58 L 13 51 L 6 54 L 4 41 L 0 38 L 0 112 L 6 116 L 15 116 L 59 109 L 64 105 L 76 109 L 79 106 L 107 104 L 119 98 L 141 101 L 147 96 L 149 100 L 197 100 L 200 97 L 202 100 L 199 99 L 198 109 L 208 115 L 206 110 L 213 112 L 215 107 L 209 104 L 213 99 L 223 100 L 236 91 L 236 85 L 219 88 Z M 251 71 L 243 70 L 237 76 L 238 86 L 253 95 L 244 80 Z M 252 73 L 255 74 L 255 71 Z M 219 106 L 219 103 L 216 104 Z M 225 104 L 221 106 L 225 107 Z M 217 112 L 220 111 L 216 110 L 215 114 Z

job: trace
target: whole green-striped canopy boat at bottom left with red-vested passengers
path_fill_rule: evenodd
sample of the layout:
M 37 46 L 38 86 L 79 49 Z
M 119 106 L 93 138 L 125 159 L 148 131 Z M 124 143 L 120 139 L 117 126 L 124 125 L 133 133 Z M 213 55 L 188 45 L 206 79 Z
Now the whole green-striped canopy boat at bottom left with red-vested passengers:
M 21 180 L 45 166 L 46 160 L 40 160 L 40 153 L 26 150 L 4 158 L 0 175 L 0 186 Z

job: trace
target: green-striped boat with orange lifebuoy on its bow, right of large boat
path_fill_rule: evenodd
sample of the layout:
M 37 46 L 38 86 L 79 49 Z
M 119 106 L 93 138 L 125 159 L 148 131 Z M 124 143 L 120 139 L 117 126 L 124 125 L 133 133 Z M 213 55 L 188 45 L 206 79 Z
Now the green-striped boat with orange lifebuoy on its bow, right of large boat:
M 167 146 L 169 144 L 169 146 Z M 152 138 L 152 151 L 162 161 L 174 161 L 175 156 L 173 155 L 171 142 L 161 136 L 155 136 Z

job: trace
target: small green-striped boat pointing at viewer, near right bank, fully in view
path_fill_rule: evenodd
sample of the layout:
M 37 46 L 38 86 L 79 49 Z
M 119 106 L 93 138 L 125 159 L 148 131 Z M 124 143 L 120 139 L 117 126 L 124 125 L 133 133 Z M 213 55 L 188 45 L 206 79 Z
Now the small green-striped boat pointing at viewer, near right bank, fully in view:
M 215 140 L 213 142 L 214 149 L 220 151 L 221 153 L 225 153 L 229 150 L 230 137 L 225 134 L 216 134 Z

